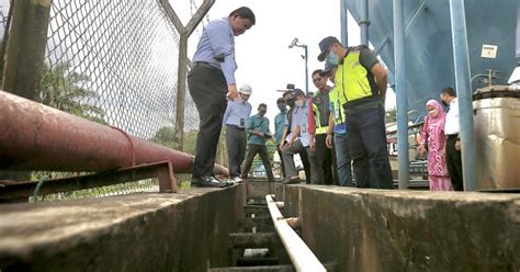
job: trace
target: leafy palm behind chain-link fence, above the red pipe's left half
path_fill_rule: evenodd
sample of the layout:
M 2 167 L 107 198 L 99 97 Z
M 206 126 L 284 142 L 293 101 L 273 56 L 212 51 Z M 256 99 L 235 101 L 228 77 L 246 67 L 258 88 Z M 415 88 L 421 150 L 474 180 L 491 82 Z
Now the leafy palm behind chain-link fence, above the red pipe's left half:
M 42 73 L 38 99 L 42 104 L 75 114 L 77 116 L 106 125 L 105 112 L 88 101 L 99 94 L 84 86 L 90 77 L 70 69 L 70 63 L 59 63 L 54 67 L 45 64 Z

